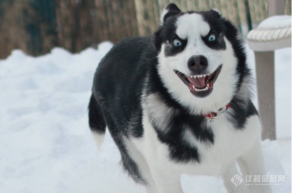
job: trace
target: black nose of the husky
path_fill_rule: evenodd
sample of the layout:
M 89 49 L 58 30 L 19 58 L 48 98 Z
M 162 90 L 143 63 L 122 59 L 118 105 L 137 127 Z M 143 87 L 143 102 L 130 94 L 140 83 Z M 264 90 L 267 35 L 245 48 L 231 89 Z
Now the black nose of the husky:
M 200 74 L 207 68 L 208 60 L 205 56 L 202 55 L 192 56 L 187 61 L 187 66 L 192 72 Z

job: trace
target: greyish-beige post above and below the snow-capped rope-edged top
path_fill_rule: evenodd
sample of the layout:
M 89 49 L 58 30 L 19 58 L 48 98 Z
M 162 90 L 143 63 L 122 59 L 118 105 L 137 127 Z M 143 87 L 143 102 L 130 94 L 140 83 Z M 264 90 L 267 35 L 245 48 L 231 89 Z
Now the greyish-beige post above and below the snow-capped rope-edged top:
M 269 16 L 283 15 L 285 3 L 285 0 L 269 0 Z M 275 140 L 274 51 L 255 51 L 255 58 L 262 140 Z

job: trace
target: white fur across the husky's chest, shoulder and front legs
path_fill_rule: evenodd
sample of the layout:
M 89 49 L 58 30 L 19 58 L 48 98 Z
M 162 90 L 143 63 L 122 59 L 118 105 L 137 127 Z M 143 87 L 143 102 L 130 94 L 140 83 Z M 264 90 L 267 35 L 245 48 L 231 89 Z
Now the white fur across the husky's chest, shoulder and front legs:
M 162 144 L 155 129 L 149 121 L 149 109 L 147 100 L 159 101 L 156 94 L 148 96 L 143 103 L 144 136 L 141 138 L 124 139 L 131 158 L 137 162 L 143 177 L 149 182 L 149 193 L 183 193 L 180 185 L 182 173 L 192 175 L 221 175 L 228 192 L 242 193 L 270 193 L 268 186 L 236 187 L 231 184 L 231 178 L 240 174 L 236 169 L 236 161 L 239 161 L 241 173 L 264 175 L 265 169 L 262 160 L 262 152 L 259 144 L 260 122 L 256 115 L 247 119 L 245 128 L 234 129 L 227 120 L 227 113 L 221 114 L 212 125 L 214 132 L 214 145 L 206 145 L 198 141 L 191 132 L 186 131 L 183 139 L 200 150 L 201 163 L 175 163 L 169 161 L 168 146 Z M 162 109 L 165 104 L 160 104 L 155 109 Z

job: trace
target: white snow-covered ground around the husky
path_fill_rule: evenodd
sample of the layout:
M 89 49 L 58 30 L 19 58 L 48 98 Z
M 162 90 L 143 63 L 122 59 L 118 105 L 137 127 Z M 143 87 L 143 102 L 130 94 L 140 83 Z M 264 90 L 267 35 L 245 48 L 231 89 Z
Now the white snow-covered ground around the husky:
M 87 105 L 95 68 L 111 47 L 71 54 L 62 48 L 0 60 L 0 193 L 145 193 L 123 172 L 109 133 L 98 151 Z M 254 55 L 249 51 L 254 68 Z M 269 175 L 286 175 L 291 193 L 291 48 L 277 50 L 277 140 L 262 147 Z M 185 193 L 225 193 L 219 177 L 182 177 Z

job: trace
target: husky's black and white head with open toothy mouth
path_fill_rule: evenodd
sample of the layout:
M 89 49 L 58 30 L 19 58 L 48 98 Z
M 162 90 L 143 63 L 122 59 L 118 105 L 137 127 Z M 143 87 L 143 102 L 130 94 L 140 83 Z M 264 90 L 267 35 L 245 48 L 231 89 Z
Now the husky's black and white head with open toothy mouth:
M 169 4 L 154 36 L 164 85 L 195 113 L 228 104 L 248 73 L 237 29 L 218 11 L 182 13 Z

